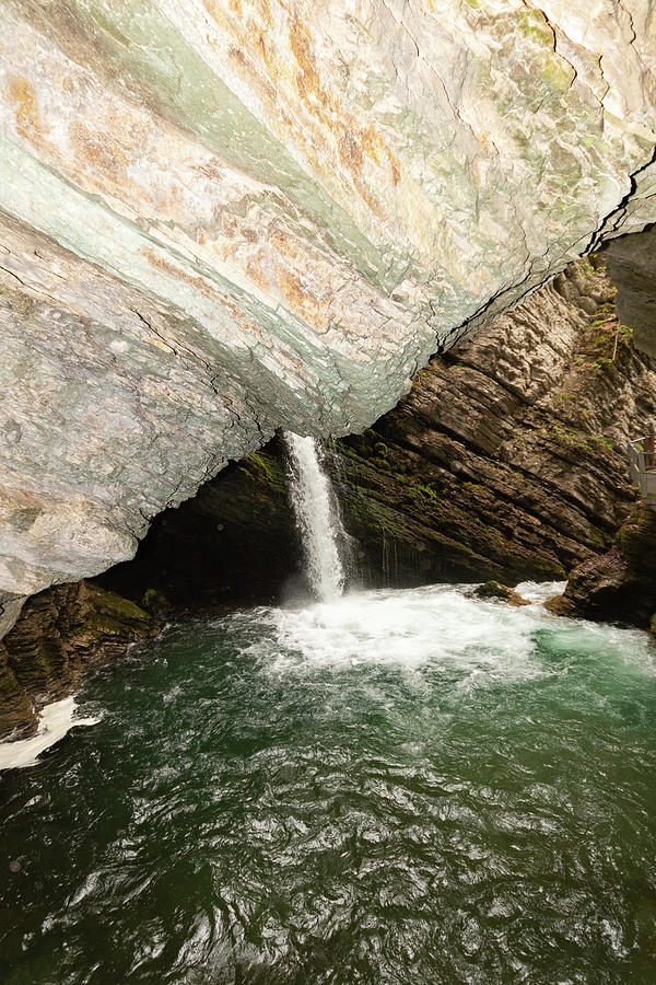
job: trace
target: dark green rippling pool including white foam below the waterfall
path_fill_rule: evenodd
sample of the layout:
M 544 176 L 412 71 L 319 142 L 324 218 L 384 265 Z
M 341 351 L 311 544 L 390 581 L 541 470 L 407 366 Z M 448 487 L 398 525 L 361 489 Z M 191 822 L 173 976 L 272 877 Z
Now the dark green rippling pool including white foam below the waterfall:
M 655 669 L 438 587 L 173 627 L 0 775 L 0 982 L 654 983 Z

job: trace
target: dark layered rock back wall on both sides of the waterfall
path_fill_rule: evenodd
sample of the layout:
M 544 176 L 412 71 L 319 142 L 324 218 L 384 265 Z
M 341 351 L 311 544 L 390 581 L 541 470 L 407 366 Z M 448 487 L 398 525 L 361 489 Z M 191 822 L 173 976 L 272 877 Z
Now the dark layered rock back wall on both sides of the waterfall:
M 637 496 L 626 440 L 656 418 L 656 362 L 635 350 L 614 296 L 604 255 L 577 262 L 433 358 L 372 429 L 333 443 L 352 575 L 564 580 L 610 547 Z M 157 518 L 103 583 L 194 606 L 280 599 L 296 587 L 298 546 L 273 442 Z

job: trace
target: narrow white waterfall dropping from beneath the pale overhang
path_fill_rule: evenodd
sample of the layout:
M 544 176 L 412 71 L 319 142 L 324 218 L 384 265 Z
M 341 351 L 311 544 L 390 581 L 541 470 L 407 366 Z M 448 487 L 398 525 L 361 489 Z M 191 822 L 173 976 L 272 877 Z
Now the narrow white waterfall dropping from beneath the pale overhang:
M 286 431 L 292 464 L 290 497 L 303 537 L 307 576 L 321 602 L 338 599 L 344 587 L 338 536 L 342 533 L 330 479 L 321 467 L 314 438 Z

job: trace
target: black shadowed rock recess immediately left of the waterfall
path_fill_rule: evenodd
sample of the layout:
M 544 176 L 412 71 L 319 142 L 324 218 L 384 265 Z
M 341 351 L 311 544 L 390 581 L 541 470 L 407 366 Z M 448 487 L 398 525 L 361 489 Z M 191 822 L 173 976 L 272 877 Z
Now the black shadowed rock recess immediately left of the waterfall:
M 286 482 L 283 443 L 274 439 L 157 517 L 137 557 L 97 581 L 136 600 L 154 590 L 176 610 L 279 601 L 301 590 Z

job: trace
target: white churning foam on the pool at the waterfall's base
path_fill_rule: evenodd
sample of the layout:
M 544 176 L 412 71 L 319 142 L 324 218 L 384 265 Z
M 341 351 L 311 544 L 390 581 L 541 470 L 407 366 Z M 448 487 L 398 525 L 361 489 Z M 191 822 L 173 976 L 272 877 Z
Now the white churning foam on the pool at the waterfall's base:
M 555 588 L 555 591 L 553 590 Z M 557 594 L 559 582 L 518 587 L 534 603 Z M 272 638 L 256 650 L 274 672 L 396 664 L 408 671 L 431 665 L 469 677 L 532 677 L 550 673 L 538 654 L 540 633 L 573 653 L 583 651 L 656 672 L 646 633 L 550 615 L 542 605 L 520 609 L 481 600 L 472 586 L 351 592 L 336 602 L 297 609 L 259 610 Z

